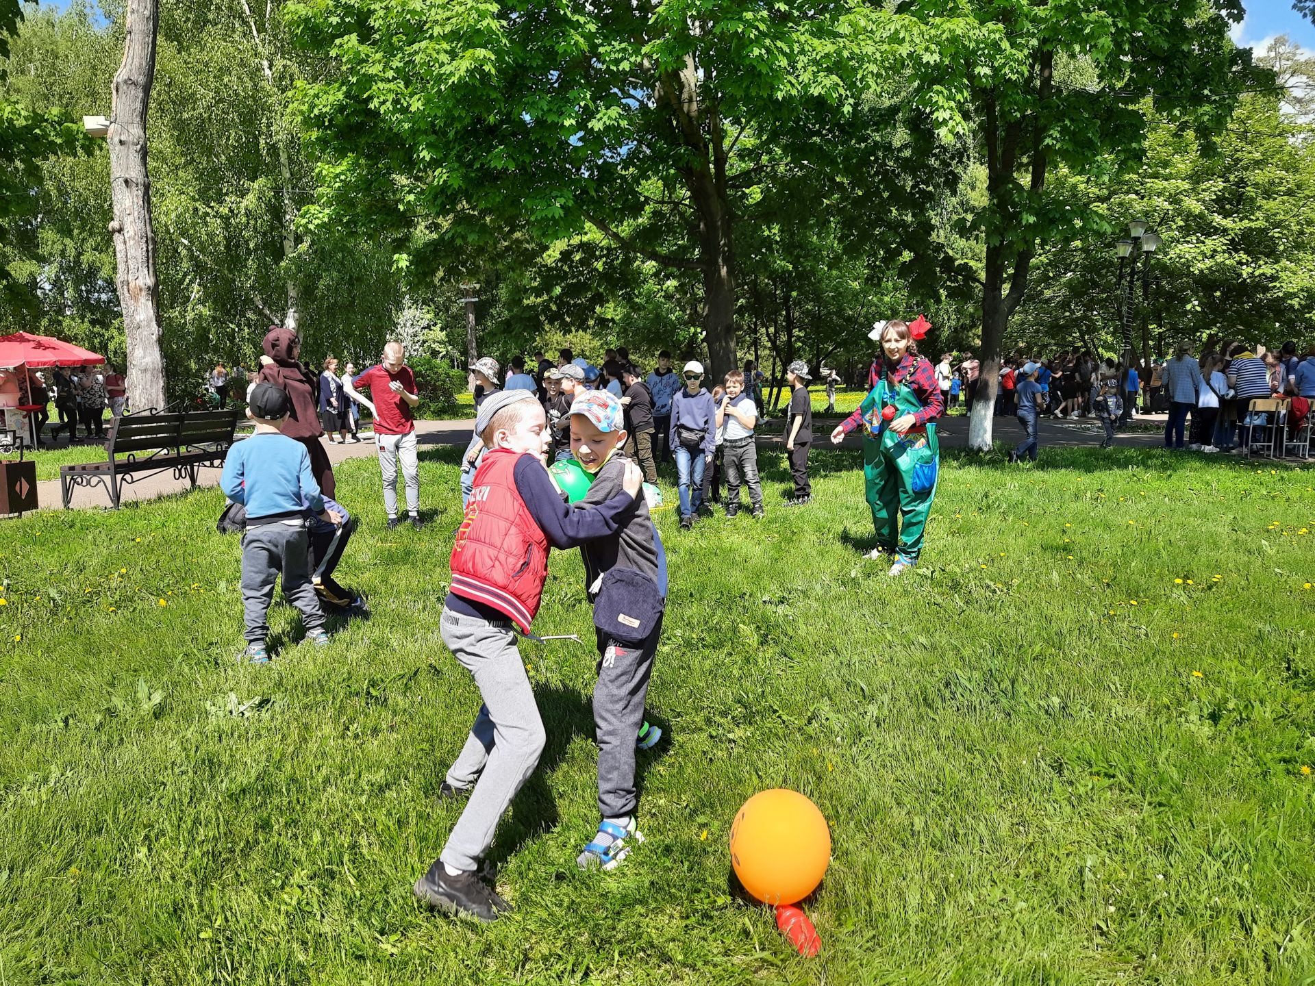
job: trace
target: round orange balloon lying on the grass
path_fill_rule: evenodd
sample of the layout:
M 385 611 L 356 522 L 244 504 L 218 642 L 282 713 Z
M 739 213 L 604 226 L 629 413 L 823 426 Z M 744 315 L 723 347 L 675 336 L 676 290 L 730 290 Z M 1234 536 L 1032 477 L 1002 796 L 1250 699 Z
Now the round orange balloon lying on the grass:
M 775 787 L 744 802 L 731 826 L 731 865 L 744 889 L 765 904 L 811 894 L 831 861 L 831 832 L 818 806 Z

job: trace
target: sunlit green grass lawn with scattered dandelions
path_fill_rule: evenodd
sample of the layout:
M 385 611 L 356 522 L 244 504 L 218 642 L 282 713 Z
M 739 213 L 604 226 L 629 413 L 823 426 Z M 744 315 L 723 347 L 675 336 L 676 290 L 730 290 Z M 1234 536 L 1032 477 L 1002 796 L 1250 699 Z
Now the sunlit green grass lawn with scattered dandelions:
M 1311 468 L 947 458 L 899 581 L 855 454 L 800 510 L 764 456 L 759 523 L 660 513 L 648 841 L 576 870 L 594 652 L 525 643 L 548 749 L 494 847 L 517 912 L 477 927 L 410 894 L 477 706 L 438 634 L 456 455 L 422 456 L 421 532 L 341 468 L 373 617 L 313 651 L 279 605 L 263 669 L 218 492 L 4 523 L 0 983 L 1315 982 Z M 558 553 L 537 630 L 589 628 Z M 727 881 L 777 785 L 832 826 L 811 961 Z

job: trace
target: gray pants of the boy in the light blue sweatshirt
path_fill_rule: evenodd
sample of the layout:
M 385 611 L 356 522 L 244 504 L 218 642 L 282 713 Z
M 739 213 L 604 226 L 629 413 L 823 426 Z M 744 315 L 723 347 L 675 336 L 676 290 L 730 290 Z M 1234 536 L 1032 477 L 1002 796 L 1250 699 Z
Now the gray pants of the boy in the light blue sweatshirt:
M 242 615 L 247 643 L 264 643 L 274 582 L 283 573 L 283 596 L 301 613 L 308 634 L 325 628 L 325 614 L 310 582 L 310 531 L 304 522 L 266 523 L 242 534 Z

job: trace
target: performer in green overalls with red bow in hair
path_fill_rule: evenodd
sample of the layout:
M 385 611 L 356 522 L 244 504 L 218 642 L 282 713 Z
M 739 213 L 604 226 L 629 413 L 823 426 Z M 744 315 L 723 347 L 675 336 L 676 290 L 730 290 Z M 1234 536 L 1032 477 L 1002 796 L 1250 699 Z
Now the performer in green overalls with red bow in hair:
M 859 409 L 831 433 L 831 443 L 863 427 L 863 477 L 867 485 L 877 547 L 868 555 L 894 555 L 888 575 L 903 575 L 918 561 L 922 535 L 936 496 L 940 446 L 936 421 L 944 398 L 931 362 L 918 355 L 917 340 L 931 323 L 918 316 L 913 325 L 892 319 L 877 333 L 881 340 L 880 379 Z M 897 514 L 903 517 L 902 530 Z

